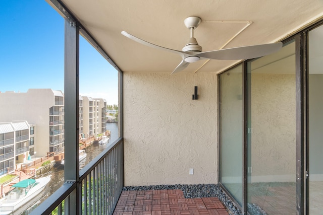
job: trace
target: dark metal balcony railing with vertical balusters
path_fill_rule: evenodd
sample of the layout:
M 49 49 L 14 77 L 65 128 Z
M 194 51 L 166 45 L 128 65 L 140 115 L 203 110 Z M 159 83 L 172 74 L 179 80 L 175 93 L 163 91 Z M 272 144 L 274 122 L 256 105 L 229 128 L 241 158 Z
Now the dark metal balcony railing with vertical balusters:
M 123 138 L 119 138 L 80 170 L 79 180 L 65 182 L 31 214 L 51 214 L 54 210 L 55 214 L 69 214 L 77 205 L 78 214 L 111 215 L 123 186 Z M 79 193 L 76 198 L 75 193 Z

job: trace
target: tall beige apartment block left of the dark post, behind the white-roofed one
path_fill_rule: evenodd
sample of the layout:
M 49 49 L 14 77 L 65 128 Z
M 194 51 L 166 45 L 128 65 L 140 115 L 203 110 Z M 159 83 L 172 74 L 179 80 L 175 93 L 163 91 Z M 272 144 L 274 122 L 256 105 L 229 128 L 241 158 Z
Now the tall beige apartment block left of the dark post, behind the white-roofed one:
M 0 121 L 26 120 L 34 123 L 37 144 L 33 152 L 45 156 L 64 150 L 64 94 L 51 89 L 29 89 L 26 93 L 0 93 Z M 33 155 L 31 152 L 31 155 Z

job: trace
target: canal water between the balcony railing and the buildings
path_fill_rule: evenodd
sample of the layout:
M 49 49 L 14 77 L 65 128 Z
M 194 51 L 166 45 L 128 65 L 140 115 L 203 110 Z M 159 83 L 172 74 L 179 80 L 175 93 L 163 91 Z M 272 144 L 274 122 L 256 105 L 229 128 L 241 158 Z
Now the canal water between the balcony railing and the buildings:
M 105 145 L 92 145 L 86 149 L 86 161 L 85 165 L 88 164 L 93 158 L 99 155 L 107 146 L 112 144 L 116 139 L 118 139 L 118 123 L 106 123 L 106 129 L 111 131 L 110 138 Z M 49 195 L 54 193 L 58 188 L 64 184 L 64 166 L 55 165 L 51 170 L 51 180 L 46 185 L 45 189 L 40 193 L 41 199 L 33 202 L 29 208 L 21 208 L 14 214 L 29 214 L 37 205 L 39 205 L 43 200 L 45 200 Z

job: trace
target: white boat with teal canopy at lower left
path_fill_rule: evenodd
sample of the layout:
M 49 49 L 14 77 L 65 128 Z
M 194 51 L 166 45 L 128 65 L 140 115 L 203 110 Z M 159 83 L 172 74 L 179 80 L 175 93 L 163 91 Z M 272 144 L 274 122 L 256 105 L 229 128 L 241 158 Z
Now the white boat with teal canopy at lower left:
M 8 194 L 0 199 L 0 214 L 10 214 L 21 206 L 31 203 L 30 200 L 36 197 L 50 181 L 51 175 L 38 179 L 25 179 L 14 185 Z

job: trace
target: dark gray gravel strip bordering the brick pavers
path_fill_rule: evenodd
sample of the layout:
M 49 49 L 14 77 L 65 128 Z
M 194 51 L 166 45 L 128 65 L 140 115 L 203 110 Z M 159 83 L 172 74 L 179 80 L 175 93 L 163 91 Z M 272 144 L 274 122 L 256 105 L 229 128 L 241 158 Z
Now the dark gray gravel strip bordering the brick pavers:
M 123 190 L 183 190 L 185 198 L 217 197 L 225 205 L 230 214 L 242 214 L 230 198 L 223 192 L 218 184 L 194 184 L 194 185 L 153 185 L 124 187 Z

